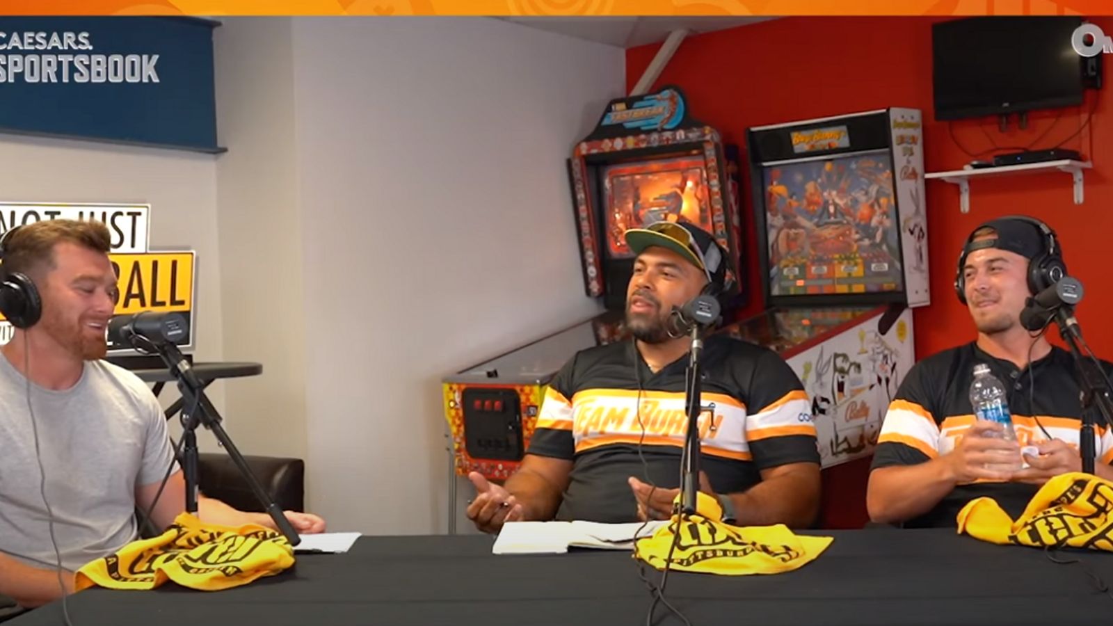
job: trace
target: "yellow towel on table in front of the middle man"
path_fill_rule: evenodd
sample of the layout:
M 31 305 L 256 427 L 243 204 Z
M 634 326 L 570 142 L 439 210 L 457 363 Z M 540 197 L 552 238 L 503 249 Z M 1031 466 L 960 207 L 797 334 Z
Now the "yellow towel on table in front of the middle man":
M 810 563 L 834 540 L 798 536 L 782 524 L 748 527 L 723 524 L 719 502 L 702 492 L 697 493 L 696 509 L 697 513 L 689 519 L 673 516 L 652 537 L 639 539 L 634 544 L 634 558 L 657 569 L 664 569 L 668 563 L 669 569 L 677 571 L 727 576 L 780 574 Z M 670 551 L 671 560 L 667 560 Z

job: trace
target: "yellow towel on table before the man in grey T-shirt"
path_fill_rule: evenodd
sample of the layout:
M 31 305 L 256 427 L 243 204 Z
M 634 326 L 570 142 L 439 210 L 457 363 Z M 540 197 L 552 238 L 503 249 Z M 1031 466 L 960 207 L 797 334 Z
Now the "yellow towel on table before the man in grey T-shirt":
M 115 555 L 86 564 L 77 573 L 77 590 L 154 589 L 174 580 L 184 587 L 215 591 L 273 576 L 294 565 L 294 548 L 263 526 L 205 525 L 181 513 L 162 535 L 132 541 Z

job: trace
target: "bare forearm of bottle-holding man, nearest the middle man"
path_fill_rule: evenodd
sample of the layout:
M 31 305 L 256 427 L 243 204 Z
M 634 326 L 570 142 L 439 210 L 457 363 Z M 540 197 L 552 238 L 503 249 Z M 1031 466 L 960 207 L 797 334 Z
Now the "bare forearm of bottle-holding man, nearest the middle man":
M 896 522 L 924 515 L 955 488 L 955 478 L 940 457 L 915 466 L 874 470 L 866 491 L 869 519 Z

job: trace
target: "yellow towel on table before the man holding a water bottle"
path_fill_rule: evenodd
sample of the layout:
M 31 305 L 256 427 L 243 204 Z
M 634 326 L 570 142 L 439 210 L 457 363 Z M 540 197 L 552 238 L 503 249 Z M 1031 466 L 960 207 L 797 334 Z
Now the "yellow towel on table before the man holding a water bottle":
M 1036 491 L 1015 521 L 992 498 L 958 511 L 958 532 L 994 544 L 1113 551 L 1113 482 L 1071 472 Z

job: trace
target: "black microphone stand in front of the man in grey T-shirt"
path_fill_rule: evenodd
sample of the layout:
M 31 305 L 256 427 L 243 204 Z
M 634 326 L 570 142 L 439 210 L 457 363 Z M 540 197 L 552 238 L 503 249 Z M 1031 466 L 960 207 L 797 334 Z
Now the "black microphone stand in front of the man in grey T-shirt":
M 178 391 L 181 393 L 184 401 L 181 411 L 181 466 L 186 479 L 186 512 L 197 515 L 197 492 L 199 487 L 197 478 L 197 436 L 195 431 L 197 430 L 197 426 L 201 424 L 210 430 L 216 436 L 217 441 L 220 442 L 220 446 L 228 451 L 233 463 L 239 469 L 239 473 L 247 481 L 256 499 L 263 505 L 264 510 L 270 516 L 270 519 L 274 520 L 275 528 L 286 537 L 290 546 L 302 542 L 302 538 L 294 530 L 294 526 L 290 525 L 282 509 L 278 508 L 278 505 L 275 503 L 270 495 L 263 488 L 259 479 L 255 477 L 255 472 L 248 467 L 247 460 L 239 453 L 239 449 L 236 448 L 236 444 L 232 442 L 232 438 L 228 437 L 227 431 L 220 426 L 224 418 L 220 417 L 216 407 L 205 395 L 205 387 L 194 375 L 191 365 L 185 355 L 181 354 L 181 351 L 178 350 L 178 346 L 173 343 L 155 343 L 150 341 L 144 341 L 142 345 L 140 345 L 139 335 L 132 335 L 131 341 L 136 350 L 141 352 L 158 352 L 166 366 L 169 368 L 170 373 L 174 378 L 178 379 Z

